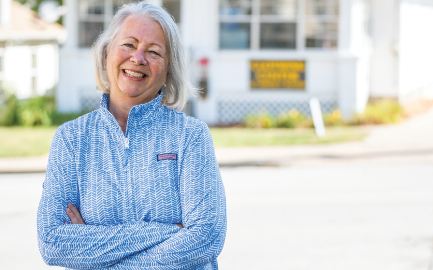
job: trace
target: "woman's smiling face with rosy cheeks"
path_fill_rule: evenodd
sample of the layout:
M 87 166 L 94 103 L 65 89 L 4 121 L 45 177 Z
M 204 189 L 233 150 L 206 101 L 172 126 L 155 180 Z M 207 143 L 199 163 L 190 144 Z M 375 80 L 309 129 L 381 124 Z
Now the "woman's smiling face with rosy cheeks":
M 168 65 L 161 25 L 147 17 L 127 17 L 107 53 L 110 96 L 151 101 L 166 82 Z

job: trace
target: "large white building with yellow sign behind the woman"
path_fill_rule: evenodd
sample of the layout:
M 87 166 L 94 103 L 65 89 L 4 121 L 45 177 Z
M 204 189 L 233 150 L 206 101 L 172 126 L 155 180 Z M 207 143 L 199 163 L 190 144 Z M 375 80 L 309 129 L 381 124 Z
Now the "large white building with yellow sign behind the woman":
M 122 0 L 65 0 L 57 99 L 96 108 L 90 45 Z M 128 1 L 129 2 L 129 1 Z M 163 3 L 164 2 L 164 3 Z M 433 0 L 153 0 L 176 18 L 191 77 L 205 87 L 188 108 L 210 125 L 295 107 L 362 112 L 369 97 L 431 94 Z

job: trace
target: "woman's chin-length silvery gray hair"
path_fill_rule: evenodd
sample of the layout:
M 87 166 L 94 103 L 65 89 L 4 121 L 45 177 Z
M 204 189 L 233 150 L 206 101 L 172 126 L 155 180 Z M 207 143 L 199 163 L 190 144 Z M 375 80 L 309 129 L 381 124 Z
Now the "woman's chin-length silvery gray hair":
M 188 80 L 179 28 L 173 17 L 163 8 L 145 2 L 123 5 L 114 15 L 109 27 L 93 43 L 92 55 L 97 87 L 105 94 L 110 93 L 110 84 L 105 70 L 107 52 L 123 21 L 131 15 L 150 18 L 163 27 L 169 68 L 166 86 L 162 88 L 162 103 L 169 108 L 181 110 L 189 97 L 197 95 L 198 88 Z

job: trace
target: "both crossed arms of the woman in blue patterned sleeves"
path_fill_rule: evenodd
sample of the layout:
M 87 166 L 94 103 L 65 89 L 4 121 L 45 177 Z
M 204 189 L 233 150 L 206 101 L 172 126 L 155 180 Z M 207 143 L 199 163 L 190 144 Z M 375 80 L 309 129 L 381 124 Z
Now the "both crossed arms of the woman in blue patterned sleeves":
M 225 239 L 224 187 L 207 128 L 193 146 L 184 156 L 190 166 L 180 171 L 182 230 L 180 224 L 145 221 L 90 226 L 73 206 L 79 203 L 74 159 L 58 131 L 38 210 L 38 242 L 45 262 L 74 269 L 152 270 L 196 269 L 213 261 Z M 71 224 L 65 224 L 68 218 Z

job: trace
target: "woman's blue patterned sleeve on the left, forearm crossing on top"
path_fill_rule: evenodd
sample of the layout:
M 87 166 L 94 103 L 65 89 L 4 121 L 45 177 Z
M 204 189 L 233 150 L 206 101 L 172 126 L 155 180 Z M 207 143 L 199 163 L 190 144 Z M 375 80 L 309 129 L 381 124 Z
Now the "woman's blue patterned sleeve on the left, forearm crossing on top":
M 119 262 L 168 239 L 176 224 L 131 222 L 114 226 L 64 224 L 67 203 L 77 205 L 77 171 L 71 144 L 61 128 L 51 143 L 39 203 L 39 251 L 45 263 L 73 269 L 97 269 Z

